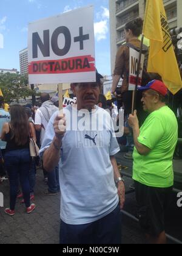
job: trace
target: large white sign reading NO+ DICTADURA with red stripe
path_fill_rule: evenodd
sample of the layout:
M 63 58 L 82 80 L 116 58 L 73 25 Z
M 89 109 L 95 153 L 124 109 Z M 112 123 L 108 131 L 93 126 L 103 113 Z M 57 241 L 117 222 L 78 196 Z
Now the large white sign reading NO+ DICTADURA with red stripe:
M 29 84 L 95 82 L 93 6 L 29 24 Z

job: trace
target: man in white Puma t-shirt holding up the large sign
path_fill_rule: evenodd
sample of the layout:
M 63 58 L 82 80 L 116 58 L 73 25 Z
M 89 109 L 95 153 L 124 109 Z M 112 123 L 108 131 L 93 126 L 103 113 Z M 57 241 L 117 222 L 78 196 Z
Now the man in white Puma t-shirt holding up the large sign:
M 59 163 L 61 244 L 121 243 L 125 188 L 114 157 L 120 148 L 112 120 L 96 105 L 101 77 L 96 73 L 96 82 L 72 84 L 77 105 L 64 108 L 64 117 L 52 116 L 40 151 L 47 171 Z M 110 128 L 93 128 L 103 117 Z

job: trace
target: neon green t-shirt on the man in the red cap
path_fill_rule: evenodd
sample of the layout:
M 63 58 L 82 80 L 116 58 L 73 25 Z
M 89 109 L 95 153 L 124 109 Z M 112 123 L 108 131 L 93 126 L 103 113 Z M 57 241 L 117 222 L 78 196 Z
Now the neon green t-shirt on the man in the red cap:
M 164 106 L 152 112 L 140 129 L 138 141 L 151 149 L 147 155 L 133 152 L 133 179 L 149 187 L 174 185 L 172 159 L 178 140 L 178 123 L 174 112 Z

